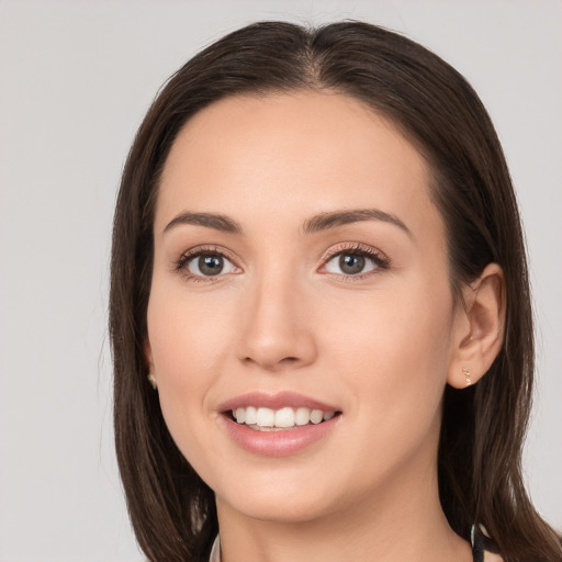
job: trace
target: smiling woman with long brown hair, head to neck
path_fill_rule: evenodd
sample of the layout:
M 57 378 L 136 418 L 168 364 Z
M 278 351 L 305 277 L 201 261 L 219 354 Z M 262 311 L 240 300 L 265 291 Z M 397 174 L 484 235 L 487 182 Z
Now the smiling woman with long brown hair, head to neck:
M 150 560 L 562 560 L 520 474 L 505 159 L 414 42 L 269 22 L 181 68 L 125 166 L 110 314 Z

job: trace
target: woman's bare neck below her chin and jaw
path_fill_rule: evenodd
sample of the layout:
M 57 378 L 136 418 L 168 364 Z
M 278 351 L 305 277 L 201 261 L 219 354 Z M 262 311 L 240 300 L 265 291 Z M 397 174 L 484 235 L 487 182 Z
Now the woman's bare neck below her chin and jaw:
M 469 543 L 439 504 L 436 463 L 423 464 L 426 470 L 411 464 L 409 474 L 393 474 L 361 501 L 308 521 L 257 520 L 217 498 L 222 562 L 469 562 Z

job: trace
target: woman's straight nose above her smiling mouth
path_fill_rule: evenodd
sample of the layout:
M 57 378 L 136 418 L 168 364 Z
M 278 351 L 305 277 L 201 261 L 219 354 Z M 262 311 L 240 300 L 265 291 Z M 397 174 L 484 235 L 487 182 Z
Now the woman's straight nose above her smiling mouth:
M 241 302 L 238 358 L 270 372 L 300 369 L 316 359 L 313 321 L 296 282 L 262 280 Z

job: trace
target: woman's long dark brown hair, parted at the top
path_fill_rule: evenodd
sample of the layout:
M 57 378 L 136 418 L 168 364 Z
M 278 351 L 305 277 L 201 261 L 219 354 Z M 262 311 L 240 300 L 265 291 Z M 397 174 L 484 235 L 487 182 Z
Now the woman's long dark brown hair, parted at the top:
M 473 387 L 447 387 L 439 493 L 451 527 L 485 525 L 506 562 L 562 560 L 560 539 L 532 507 L 521 446 L 533 379 L 526 252 L 505 158 L 480 99 L 451 66 L 417 43 L 360 22 L 306 30 L 249 25 L 187 63 L 136 135 L 114 218 L 110 331 L 119 467 L 137 540 L 153 561 L 199 561 L 217 532 L 213 492 L 173 443 L 147 382 L 144 344 L 158 181 L 186 122 L 222 98 L 295 90 L 340 92 L 392 120 L 426 157 L 446 224 L 451 286 L 490 262 L 506 278 L 505 341 Z

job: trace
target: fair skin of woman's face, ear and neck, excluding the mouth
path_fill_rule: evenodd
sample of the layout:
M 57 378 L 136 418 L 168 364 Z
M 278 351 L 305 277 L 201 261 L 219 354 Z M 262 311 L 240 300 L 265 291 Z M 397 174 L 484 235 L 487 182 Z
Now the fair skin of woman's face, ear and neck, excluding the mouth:
M 439 504 L 440 408 L 446 384 L 464 387 L 463 368 L 476 383 L 501 348 L 504 280 L 492 263 L 463 285 L 464 307 L 453 299 L 429 183 L 391 123 L 330 92 L 226 99 L 176 139 L 146 357 L 175 441 L 215 492 L 223 562 L 472 560 Z M 376 212 L 310 228 L 358 210 Z M 236 232 L 170 225 L 186 213 Z M 182 261 L 201 250 L 218 274 Z M 342 270 L 342 254 L 363 269 Z M 220 404 L 254 391 L 341 416 L 303 451 L 260 457 L 220 423 Z

